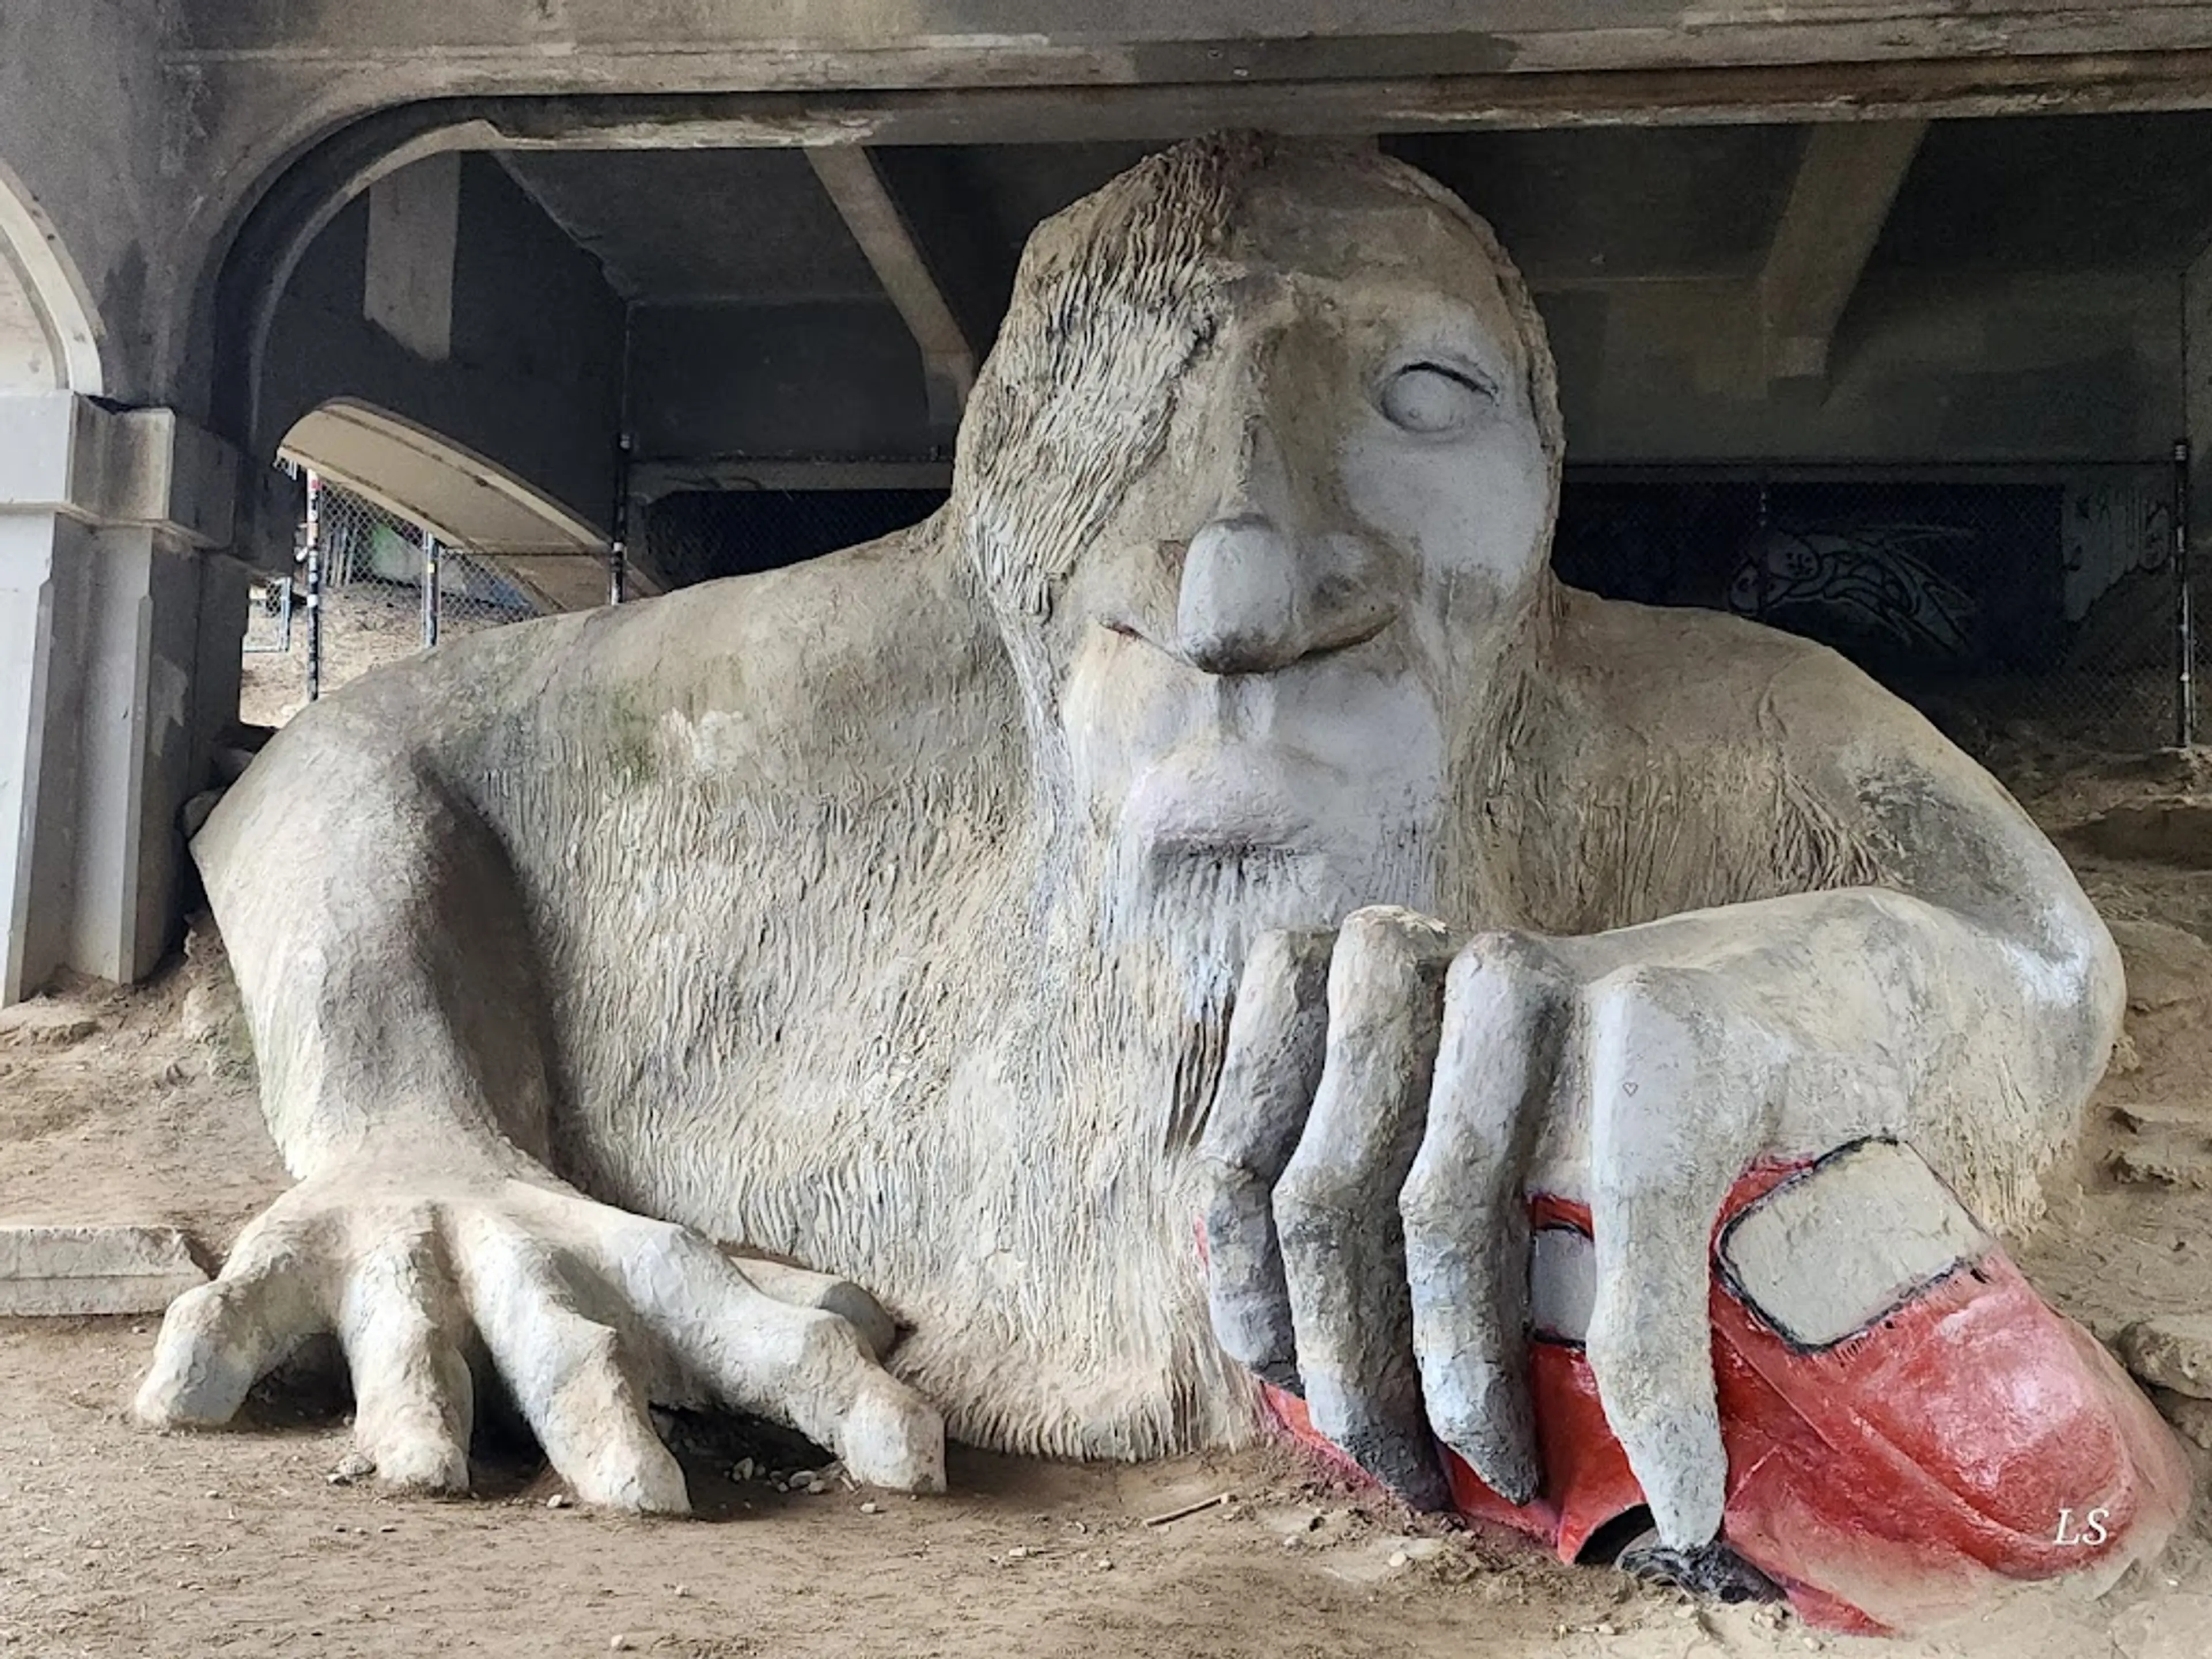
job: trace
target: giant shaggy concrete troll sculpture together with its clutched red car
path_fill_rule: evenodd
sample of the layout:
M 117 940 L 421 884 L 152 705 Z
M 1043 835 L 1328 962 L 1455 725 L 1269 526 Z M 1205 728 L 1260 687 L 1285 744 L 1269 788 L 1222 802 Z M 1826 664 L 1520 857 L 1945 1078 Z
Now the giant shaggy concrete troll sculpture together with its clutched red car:
M 1973 1221 L 2106 1064 L 2097 914 L 1836 655 L 1562 588 L 1559 458 L 1451 195 L 1183 144 L 1031 239 L 929 522 L 307 710 L 195 841 L 299 1186 L 139 1413 L 334 1332 L 383 1480 L 495 1371 L 644 1511 L 653 1400 L 905 1489 L 1281 1418 L 1858 1628 L 2157 1546 L 2170 1440 Z M 1942 1517 L 1759 1389 L 1889 1389 Z

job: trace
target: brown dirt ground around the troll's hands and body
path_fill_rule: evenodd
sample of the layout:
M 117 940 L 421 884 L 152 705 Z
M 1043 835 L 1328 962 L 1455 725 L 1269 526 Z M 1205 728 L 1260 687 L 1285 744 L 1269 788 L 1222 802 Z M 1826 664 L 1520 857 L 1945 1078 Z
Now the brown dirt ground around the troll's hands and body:
M 1997 765 L 2115 918 L 2132 998 L 2081 1159 L 2015 1254 L 2104 1338 L 2212 1310 L 2212 781 L 2159 759 L 2088 768 L 2033 734 Z M 2181 818 L 2159 818 L 2150 860 L 2126 810 L 2157 803 Z M 177 1221 L 219 1252 L 283 1186 L 226 1000 L 197 942 L 144 991 L 77 987 L 0 1037 L 0 1219 Z M 690 1522 L 549 1506 L 564 1493 L 529 1447 L 487 1451 L 478 1498 L 394 1500 L 332 1484 L 347 1429 L 327 1394 L 261 1400 L 234 1433 L 133 1427 L 150 1340 L 153 1321 L 0 1321 L 0 1659 L 2212 1655 L 2203 1502 L 2163 1562 L 2104 1599 L 2035 1588 L 1876 1644 L 1418 1524 L 1287 1453 L 1141 1469 L 956 1453 L 949 1498 L 834 1482 L 803 1495 L 734 1482 L 745 1442 L 681 1425 Z M 781 1467 L 776 1449 L 750 1449 Z M 2192 1455 L 2203 1486 L 2212 1458 Z M 1219 1493 L 1232 1498 L 1148 1524 Z

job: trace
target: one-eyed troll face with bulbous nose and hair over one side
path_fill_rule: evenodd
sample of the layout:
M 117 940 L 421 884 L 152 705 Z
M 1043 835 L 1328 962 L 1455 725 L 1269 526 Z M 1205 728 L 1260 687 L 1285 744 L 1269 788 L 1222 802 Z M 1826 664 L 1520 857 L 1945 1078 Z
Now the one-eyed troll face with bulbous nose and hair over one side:
M 1018 292 L 956 493 L 1060 832 L 1186 929 L 1433 905 L 1557 502 L 1489 228 L 1380 155 L 1230 139 L 1040 230 Z

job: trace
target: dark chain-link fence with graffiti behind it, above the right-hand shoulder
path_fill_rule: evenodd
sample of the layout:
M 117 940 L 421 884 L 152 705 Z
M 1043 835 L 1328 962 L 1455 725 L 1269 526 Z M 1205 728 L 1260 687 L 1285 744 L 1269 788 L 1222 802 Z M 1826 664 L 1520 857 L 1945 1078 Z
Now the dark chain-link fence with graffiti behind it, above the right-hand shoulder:
M 1555 566 L 1836 646 L 1962 748 L 2177 739 L 2177 469 L 1571 476 Z M 2199 653 L 2203 648 L 2199 646 Z

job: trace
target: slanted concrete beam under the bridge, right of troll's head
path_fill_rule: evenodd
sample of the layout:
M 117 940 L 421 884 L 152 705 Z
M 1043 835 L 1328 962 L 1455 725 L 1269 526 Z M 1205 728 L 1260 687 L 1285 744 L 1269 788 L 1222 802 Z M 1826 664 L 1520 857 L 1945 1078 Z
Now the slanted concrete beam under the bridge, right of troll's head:
M 1827 347 L 1927 122 L 1816 126 L 1759 274 L 1767 380 L 1825 380 Z

